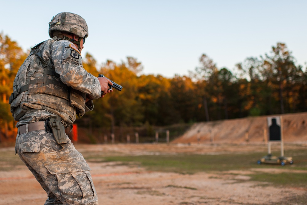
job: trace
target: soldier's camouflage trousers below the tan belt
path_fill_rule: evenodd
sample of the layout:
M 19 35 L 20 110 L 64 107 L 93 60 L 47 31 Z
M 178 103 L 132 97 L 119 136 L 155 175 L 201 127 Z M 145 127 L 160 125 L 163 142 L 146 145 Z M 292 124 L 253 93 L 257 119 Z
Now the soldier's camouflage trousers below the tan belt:
M 17 134 L 16 153 L 47 192 L 45 205 L 98 205 L 91 169 L 66 137 L 59 145 L 45 130 Z

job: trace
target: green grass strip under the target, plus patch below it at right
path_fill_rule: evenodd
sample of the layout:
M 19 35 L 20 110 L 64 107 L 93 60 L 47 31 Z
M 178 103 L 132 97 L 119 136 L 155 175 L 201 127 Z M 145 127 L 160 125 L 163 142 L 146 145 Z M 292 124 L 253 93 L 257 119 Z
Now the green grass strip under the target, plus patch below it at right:
M 103 157 L 95 153 L 93 156 L 86 156 L 87 160 L 101 159 L 105 162 L 120 161 L 123 164 L 134 162 L 141 167 L 151 171 L 177 172 L 180 174 L 194 174 L 196 172 L 221 172 L 229 170 L 257 170 L 258 168 L 287 169 L 288 172 L 278 174 L 256 171 L 251 176 L 251 180 L 268 182 L 275 186 L 307 187 L 307 174 L 291 173 L 291 170 L 307 171 L 307 150 L 289 150 L 287 155 L 292 156 L 293 165 L 287 164 L 282 167 L 280 164 L 261 164 L 256 162 L 267 153 L 229 153 L 221 155 L 150 155 L 150 156 L 108 156 Z M 275 156 L 280 156 L 280 152 L 273 152 Z

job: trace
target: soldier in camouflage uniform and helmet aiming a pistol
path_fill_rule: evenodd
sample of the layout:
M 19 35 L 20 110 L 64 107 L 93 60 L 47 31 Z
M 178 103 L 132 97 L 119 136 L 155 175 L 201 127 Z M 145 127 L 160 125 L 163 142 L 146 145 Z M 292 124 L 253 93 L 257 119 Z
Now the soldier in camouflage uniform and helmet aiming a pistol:
M 65 134 L 76 115 L 104 97 L 105 77 L 84 70 L 85 20 L 63 12 L 49 22 L 51 39 L 31 49 L 19 68 L 10 97 L 17 122 L 16 153 L 48 194 L 47 204 L 98 204 L 90 168 Z

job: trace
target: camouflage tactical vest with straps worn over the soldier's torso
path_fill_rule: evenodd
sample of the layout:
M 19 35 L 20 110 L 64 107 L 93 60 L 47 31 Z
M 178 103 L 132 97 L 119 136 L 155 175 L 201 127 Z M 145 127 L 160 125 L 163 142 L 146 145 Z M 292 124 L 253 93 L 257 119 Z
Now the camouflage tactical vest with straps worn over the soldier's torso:
M 52 38 L 34 46 L 17 72 L 9 102 L 16 121 L 30 108 L 45 109 L 66 122 L 74 122 L 76 114 L 84 115 L 86 94 L 64 84 L 52 62 L 42 57 L 46 43 L 55 40 L 62 39 Z

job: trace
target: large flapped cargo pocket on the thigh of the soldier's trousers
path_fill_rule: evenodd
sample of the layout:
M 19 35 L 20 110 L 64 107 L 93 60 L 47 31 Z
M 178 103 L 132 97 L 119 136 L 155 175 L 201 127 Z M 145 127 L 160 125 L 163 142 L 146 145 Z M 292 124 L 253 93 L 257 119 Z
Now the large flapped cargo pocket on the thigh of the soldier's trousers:
M 80 200 L 82 203 L 91 201 L 95 196 L 92 184 L 91 170 L 87 163 L 61 162 L 45 165 L 48 171 L 55 175 L 58 190 L 68 203 Z

